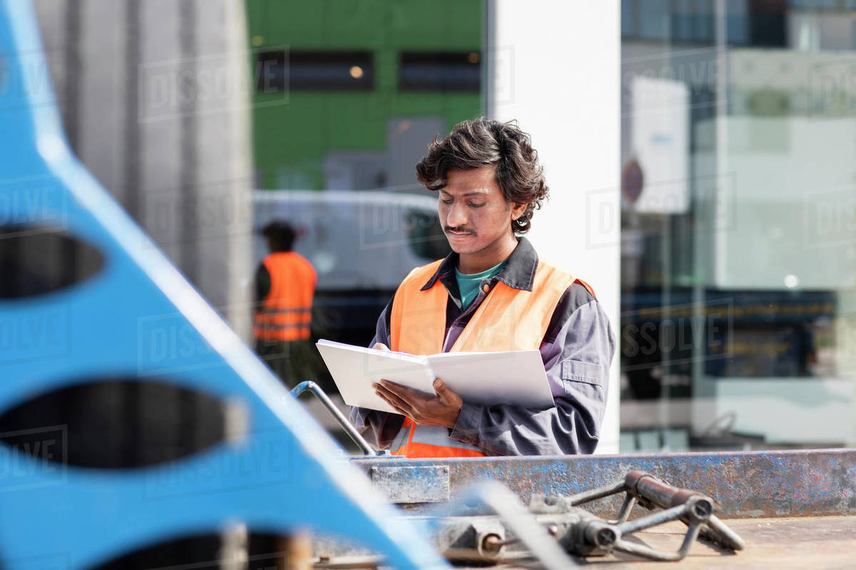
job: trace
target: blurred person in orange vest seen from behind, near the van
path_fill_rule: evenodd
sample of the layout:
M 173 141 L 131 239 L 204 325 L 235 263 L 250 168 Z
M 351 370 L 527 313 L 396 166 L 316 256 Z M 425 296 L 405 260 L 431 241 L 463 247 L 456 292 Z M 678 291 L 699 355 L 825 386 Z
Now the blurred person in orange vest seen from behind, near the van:
M 292 388 L 309 375 L 314 361 L 310 327 L 318 275 L 306 257 L 292 250 L 296 233 L 287 222 L 272 221 L 262 234 L 270 255 L 255 276 L 255 349 Z

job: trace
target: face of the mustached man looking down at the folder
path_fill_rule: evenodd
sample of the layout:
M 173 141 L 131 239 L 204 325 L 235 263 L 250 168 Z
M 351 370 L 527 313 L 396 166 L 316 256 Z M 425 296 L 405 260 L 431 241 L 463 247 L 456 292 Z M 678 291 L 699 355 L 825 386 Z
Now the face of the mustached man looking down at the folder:
M 446 180 L 437 211 L 449 246 L 459 255 L 490 249 L 511 234 L 512 220 L 526 211 L 526 204 L 506 202 L 494 167 L 451 169 Z

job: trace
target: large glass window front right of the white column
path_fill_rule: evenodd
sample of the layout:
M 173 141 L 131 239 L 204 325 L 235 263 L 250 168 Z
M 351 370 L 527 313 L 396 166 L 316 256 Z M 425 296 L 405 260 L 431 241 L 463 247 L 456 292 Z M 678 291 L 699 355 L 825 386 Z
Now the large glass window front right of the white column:
M 622 34 L 621 451 L 853 445 L 852 15 L 643 5 L 672 25 Z

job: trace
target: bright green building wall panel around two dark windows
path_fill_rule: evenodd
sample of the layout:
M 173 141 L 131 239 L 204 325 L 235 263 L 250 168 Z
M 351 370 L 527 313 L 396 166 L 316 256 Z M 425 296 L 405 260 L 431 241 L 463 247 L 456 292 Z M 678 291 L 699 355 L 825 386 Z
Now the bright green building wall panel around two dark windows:
M 401 51 L 481 52 L 482 0 L 247 0 L 251 62 L 266 50 L 370 51 L 371 91 L 291 89 L 253 95 L 253 156 L 262 188 L 324 188 L 331 151 L 384 151 L 389 119 L 481 113 L 475 92 L 401 91 Z M 425 141 L 427 144 L 429 141 Z

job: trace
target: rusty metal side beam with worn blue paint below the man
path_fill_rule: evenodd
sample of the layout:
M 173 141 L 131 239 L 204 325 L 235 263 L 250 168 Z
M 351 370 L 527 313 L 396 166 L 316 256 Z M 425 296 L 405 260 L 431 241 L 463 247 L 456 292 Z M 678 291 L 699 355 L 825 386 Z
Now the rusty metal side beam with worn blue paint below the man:
M 736 517 L 791 517 L 856 514 L 856 450 L 776 450 L 656 455 L 567 455 L 437 460 L 354 460 L 374 467 L 423 467 L 417 485 L 431 484 L 435 468 L 449 467 L 451 496 L 467 485 L 496 479 L 529 502 L 533 494 L 574 495 L 619 479 L 633 470 L 651 473 L 717 502 L 717 513 Z M 609 498 L 586 508 L 598 516 L 615 514 Z M 419 504 L 402 507 L 420 512 Z

